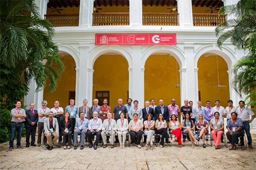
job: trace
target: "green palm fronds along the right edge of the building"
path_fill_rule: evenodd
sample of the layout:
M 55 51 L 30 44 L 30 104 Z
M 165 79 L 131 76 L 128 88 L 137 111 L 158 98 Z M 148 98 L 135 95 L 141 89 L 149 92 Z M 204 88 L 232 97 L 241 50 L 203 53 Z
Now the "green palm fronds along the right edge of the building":
M 216 27 L 219 48 L 230 38 L 234 46 L 249 51 L 248 55 L 240 58 L 233 66 L 232 88 L 239 96 L 247 95 L 245 100 L 250 98 L 247 105 L 256 105 L 256 0 L 240 0 L 237 4 L 223 6 L 219 15 L 223 13 L 235 18 Z

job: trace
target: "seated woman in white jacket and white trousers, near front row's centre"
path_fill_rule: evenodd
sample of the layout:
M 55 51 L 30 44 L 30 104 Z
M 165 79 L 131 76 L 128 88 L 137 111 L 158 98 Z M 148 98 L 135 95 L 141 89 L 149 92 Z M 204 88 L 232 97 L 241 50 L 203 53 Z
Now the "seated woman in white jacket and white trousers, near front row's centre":
M 119 148 L 125 148 L 126 134 L 128 133 L 128 120 L 124 118 L 124 113 L 120 113 L 120 117 L 117 121 L 117 133 L 120 143 Z

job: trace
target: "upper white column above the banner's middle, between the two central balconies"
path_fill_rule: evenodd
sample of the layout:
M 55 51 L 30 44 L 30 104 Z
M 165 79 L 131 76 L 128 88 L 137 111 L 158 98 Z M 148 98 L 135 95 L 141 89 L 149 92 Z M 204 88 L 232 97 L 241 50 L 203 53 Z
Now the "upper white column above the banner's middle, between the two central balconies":
M 142 0 L 130 0 L 130 25 L 132 27 L 142 25 Z

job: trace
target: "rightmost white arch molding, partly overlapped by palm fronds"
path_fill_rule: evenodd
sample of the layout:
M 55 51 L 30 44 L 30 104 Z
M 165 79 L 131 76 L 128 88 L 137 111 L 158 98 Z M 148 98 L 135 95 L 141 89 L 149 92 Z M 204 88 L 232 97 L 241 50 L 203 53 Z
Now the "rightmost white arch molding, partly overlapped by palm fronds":
M 228 48 L 223 46 L 222 50 L 220 50 L 220 49 L 216 49 L 215 45 L 207 45 L 207 46 L 203 46 L 201 49 L 199 49 L 195 53 L 194 63 L 195 63 L 196 68 L 197 68 L 197 62 L 198 62 L 199 58 L 204 53 L 215 53 L 215 54 L 221 56 L 226 61 L 228 69 L 232 68 L 232 65 L 235 61 L 234 53 L 232 51 L 230 51 Z

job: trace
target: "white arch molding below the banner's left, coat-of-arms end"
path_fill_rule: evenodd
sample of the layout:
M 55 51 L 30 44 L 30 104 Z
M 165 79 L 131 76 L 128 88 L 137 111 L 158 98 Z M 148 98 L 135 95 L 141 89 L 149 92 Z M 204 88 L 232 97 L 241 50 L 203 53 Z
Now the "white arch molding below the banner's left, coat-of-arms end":
M 99 47 L 94 48 L 90 53 L 89 53 L 89 60 L 88 60 L 88 68 L 93 68 L 94 62 L 96 59 L 100 56 L 103 55 L 104 53 L 108 52 L 114 52 L 122 55 L 128 62 L 129 67 L 132 67 L 133 62 L 132 62 L 132 56 L 131 52 L 128 51 L 126 48 L 123 46 L 119 45 L 102 45 Z

